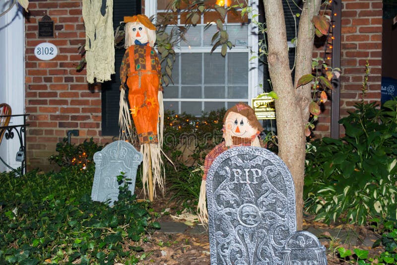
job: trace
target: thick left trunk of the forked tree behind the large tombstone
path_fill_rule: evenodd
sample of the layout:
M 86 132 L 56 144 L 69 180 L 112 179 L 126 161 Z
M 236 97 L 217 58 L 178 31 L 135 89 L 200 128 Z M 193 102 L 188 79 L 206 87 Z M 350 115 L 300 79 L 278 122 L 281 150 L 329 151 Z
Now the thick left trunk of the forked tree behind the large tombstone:
M 264 0 L 264 7 L 268 39 L 267 61 L 269 74 L 273 90 L 278 95 L 278 99 L 275 101 L 278 155 L 291 171 L 294 180 L 296 224 L 297 229 L 302 230 L 306 143 L 304 121 L 308 119 L 308 116 L 304 116 L 302 109 L 308 108 L 310 100 L 301 104 L 300 100 L 302 97 L 298 98 L 292 82 L 282 0 Z M 310 20 L 308 22 L 311 23 Z M 313 51 L 312 46 L 313 41 L 306 48 Z M 297 58 L 296 65 L 305 63 L 311 66 L 311 59 L 312 55 L 307 56 L 303 61 Z

